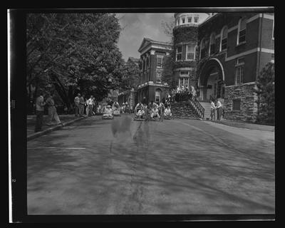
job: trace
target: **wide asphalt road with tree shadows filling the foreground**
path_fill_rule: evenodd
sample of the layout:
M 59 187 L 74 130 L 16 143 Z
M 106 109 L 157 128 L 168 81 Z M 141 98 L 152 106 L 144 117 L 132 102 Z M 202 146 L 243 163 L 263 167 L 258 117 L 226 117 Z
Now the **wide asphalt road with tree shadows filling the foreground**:
M 273 132 L 96 116 L 27 147 L 28 214 L 275 213 Z

